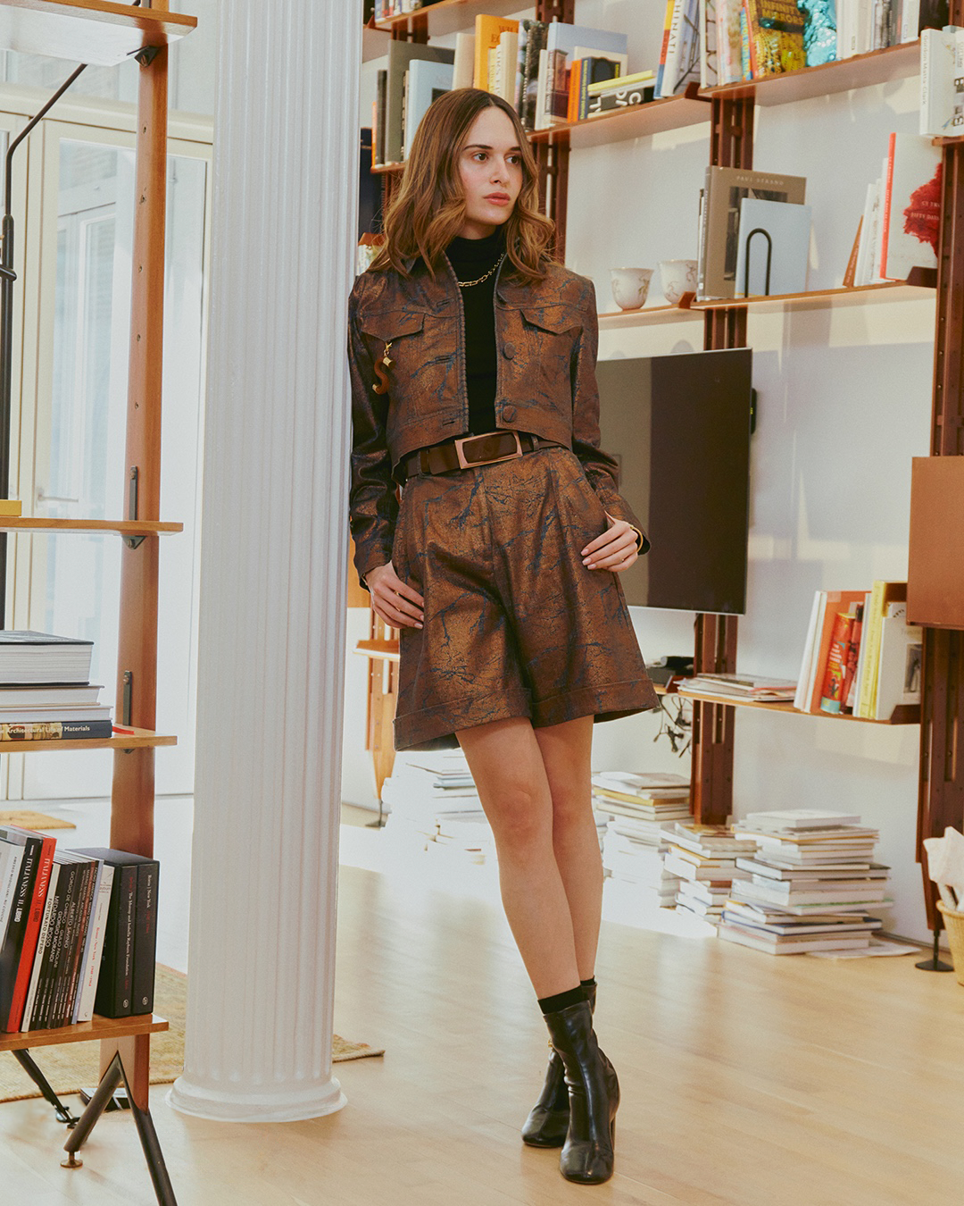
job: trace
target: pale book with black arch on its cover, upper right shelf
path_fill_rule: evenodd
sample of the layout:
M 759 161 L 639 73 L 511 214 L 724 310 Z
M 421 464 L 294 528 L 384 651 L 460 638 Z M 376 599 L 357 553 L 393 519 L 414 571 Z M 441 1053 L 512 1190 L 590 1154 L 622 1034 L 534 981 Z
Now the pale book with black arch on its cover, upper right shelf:
M 809 205 L 743 198 L 734 295 L 803 293 L 810 259 L 810 224 Z

